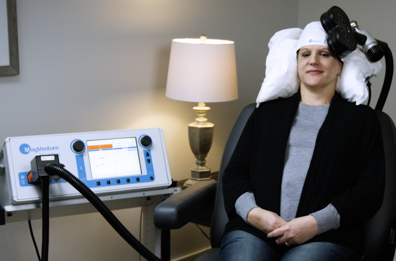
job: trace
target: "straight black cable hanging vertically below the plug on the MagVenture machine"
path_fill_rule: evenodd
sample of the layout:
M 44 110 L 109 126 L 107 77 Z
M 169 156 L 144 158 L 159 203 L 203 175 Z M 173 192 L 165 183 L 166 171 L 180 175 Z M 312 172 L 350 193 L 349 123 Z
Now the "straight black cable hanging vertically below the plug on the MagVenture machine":
M 43 194 L 43 235 L 41 245 L 41 261 L 48 261 L 49 244 L 49 176 L 41 177 L 41 187 Z

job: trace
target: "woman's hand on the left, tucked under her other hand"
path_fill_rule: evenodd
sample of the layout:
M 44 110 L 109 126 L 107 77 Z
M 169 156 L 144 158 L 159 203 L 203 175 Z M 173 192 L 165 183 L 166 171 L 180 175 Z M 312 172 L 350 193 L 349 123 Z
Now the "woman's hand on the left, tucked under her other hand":
M 266 234 L 279 227 L 283 227 L 287 223 L 286 220 L 278 214 L 268 210 L 263 210 L 262 208 L 252 208 L 249 213 L 247 213 L 246 221 L 252 227 L 255 227 L 259 231 L 263 231 Z

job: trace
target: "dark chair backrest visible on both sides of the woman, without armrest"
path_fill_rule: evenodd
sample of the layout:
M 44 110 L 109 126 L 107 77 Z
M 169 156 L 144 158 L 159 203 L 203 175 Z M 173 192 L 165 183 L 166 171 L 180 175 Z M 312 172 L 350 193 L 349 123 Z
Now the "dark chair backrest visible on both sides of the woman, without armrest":
M 228 222 L 227 213 L 224 208 L 221 178 L 232 152 L 234 152 L 242 130 L 255 106 L 255 104 L 250 104 L 242 110 L 231 130 L 223 152 L 211 227 L 212 248 L 219 248 L 221 246 L 224 228 Z M 381 111 L 376 111 L 376 113 L 381 124 L 384 142 L 386 185 L 385 196 L 380 210 L 365 224 L 366 252 L 363 260 L 392 261 L 396 248 L 396 240 L 394 239 L 396 230 L 396 128 L 388 115 Z

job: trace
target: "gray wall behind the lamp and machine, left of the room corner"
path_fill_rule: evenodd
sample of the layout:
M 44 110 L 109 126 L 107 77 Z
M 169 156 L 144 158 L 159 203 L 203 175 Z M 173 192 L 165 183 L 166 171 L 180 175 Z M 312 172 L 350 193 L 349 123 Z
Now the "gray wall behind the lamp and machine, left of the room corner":
M 207 165 L 217 171 L 234 120 L 263 81 L 268 40 L 297 26 L 297 10 L 297 0 L 17 0 L 21 74 L 0 78 L 0 141 L 161 127 L 173 179 L 188 178 L 195 104 L 166 98 L 166 76 L 171 40 L 206 34 L 236 45 L 240 97 L 208 104 Z M 139 235 L 139 208 L 115 214 Z M 40 222 L 32 222 L 38 242 Z M 27 222 L 0 226 L 0 235 L 2 259 L 37 260 Z M 50 240 L 52 260 L 138 260 L 97 213 L 51 218 Z M 173 259 L 209 247 L 194 225 L 173 231 L 171 244 Z

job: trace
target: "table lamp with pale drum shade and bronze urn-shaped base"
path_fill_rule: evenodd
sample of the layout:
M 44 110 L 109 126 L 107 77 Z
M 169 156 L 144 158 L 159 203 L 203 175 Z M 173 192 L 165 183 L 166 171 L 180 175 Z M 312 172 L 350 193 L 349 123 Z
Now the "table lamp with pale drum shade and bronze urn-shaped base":
M 205 118 L 205 103 L 238 99 L 234 42 L 207 39 L 173 39 L 169 58 L 166 97 L 197 102 L 195 122 L 188 124 L 188 140 L 196 158 L 191 177 L 183 187 L 210 179 L 205 166 L 213 141 L 213 123 Z

